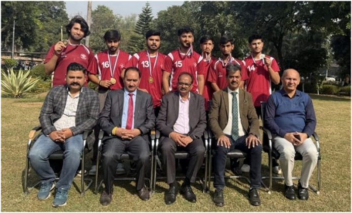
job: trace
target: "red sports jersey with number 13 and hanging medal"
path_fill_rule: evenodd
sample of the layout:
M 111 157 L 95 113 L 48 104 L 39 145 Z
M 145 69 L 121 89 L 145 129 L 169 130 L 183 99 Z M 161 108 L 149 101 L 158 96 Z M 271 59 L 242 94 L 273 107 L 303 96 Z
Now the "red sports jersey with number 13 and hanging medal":
M 127 67 L 134 66 L 141 71 L 139 88 L 146 89 L 153 98 L 154 107 L 161 105 L 162 98 L 162 69 L 166 56 L 158 53 L 157 56 L 148 59 L 147 51 L 141 51 L 133 55 Z M 156 64 L 155 64 L 156 60 Z M 150 75 L 150 72 L 152 75 Z M 152 76 L 152 81 L 150 76 Z

